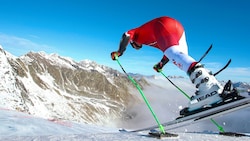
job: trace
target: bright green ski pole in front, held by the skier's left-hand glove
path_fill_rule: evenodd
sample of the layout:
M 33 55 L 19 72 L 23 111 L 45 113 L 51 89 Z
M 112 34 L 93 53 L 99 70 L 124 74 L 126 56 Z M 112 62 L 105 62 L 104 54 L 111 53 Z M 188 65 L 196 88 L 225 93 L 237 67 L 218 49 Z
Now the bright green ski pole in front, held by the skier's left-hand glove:
M 140 92 L 140 94 L 141 94 L 143 100 L 145 101 L 145 103 L 146 103 L 146 105 L 148 106 L 150 112 L 152 113 L 152 115 L 153 115 L 155 121 L 157 122 L 158 127 L 159 127 L 161 133 L 165 134 L 165 129 L 164 129 L 164 127 L 161 125 L 159 119 L 157 118 L 156 114 L 154 113 L 153 108 L 150 106 L 150 104 L 149 104 L 147 98 L 145 97 L 145 95 L 144 95 L 144 93 L 143 93 L 141 87 L 140 87 L 140 86 L 136 83 L 136 81 L 135 81 L 130 75 L 128 75 L 128 73 L 124 70 L 124 68 L 122 67 L 122 65 L 121 65 L 120 61 L 118 60 L 118 57 L 117 57 L 117 56 L 115 56 L 115 59 L 116 59 L 117 63 L 119 64 L 119 66 L 121 67 L 122 71 L 127 75 L 127 77 L 129 78 L 129 80 L 135 85 L 135 87 L 136 87 L 136 88 L 138 89 L 138 91 Z

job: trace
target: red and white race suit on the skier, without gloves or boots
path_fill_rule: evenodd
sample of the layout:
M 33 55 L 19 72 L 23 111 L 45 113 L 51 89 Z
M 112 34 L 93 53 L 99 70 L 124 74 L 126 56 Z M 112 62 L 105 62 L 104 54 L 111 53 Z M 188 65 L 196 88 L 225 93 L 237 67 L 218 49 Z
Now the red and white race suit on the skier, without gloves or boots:
M 163 16 L 125 33 L 130 42 L 160 49 L 176 66 L 187 72 L 195 60 L 188 55 L 183 26 L 175 19 Z M 121 48 L 121 46 L 120 46 Z

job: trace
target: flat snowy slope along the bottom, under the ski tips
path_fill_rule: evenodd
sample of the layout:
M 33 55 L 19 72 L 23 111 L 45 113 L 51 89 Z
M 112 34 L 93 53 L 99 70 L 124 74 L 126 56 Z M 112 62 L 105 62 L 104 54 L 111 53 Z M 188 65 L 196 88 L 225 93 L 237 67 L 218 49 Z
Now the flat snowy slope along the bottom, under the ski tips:
M 0 140 L 2 141 L 152 141 L 159 140 L 147 136 L 147 132 L 126 133 L 118 128 L 79 124 L 70 121 L 48 120 L 0 108 Z M 214 133 L 174 132 L 177 138 L 164 140 L 202 141 L 227 140 L 248 141 L 250 137 L 228 137 Z

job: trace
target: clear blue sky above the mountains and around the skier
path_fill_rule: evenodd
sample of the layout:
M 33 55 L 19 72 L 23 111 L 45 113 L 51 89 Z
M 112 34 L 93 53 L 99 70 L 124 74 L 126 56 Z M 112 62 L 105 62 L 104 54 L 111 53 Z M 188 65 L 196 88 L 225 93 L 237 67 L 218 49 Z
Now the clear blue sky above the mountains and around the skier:
M 1 0 L 0 44 L 15 56 L 45 51 L 121 70 L 110 53 L 122 33 L 166 15 L 183 24 L 196 60 L 213 44 L 202 61 L 213 72 L 232 59 L 218 79 L 250 82 L 249 6 L 248 0 Z M 152 67 L 161 58 L 155 48 L 129 45 L 119 60 L 128 72 L 156 75 Z M 163 71 L 186 77 L 171 63 Z

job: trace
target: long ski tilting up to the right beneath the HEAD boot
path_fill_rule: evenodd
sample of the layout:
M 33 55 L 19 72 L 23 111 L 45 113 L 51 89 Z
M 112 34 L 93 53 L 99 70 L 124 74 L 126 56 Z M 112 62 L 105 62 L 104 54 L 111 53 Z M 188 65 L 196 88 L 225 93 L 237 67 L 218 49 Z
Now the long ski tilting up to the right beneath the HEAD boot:
M 176 129 L 184 126 L 188 126 L 190 124 L 194 124 L 197 122 L 201 122 L 207 119 L 215 118 L 218 116 L 223 116 L 225 114 L 244 109 L 250 106 L 250 98 L 249 97 L 243 97 L 240 100 L 236 100 L 233 102 L 229 102 L 227 104 L 211 108 L 199 113 L 195 113 L 192 115 L 184 116 L 184 117 L 178 117 L 175 120 L 162 123 L 162 125 L 165 127 L 165 129 Z M 151 127 L 141 128 L 141 129 L 135 129 L 135 130 L 127 130 L 127 129 L 121 129 L 120 131 L 126 131 L 126 132 L 140 132 L 140 131 L 147 131 L 152 129 L 157 129 L 158 126 L 154 125 Z

